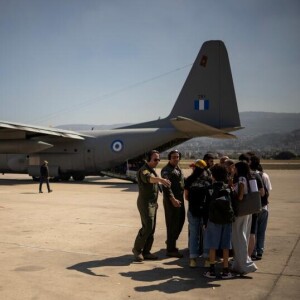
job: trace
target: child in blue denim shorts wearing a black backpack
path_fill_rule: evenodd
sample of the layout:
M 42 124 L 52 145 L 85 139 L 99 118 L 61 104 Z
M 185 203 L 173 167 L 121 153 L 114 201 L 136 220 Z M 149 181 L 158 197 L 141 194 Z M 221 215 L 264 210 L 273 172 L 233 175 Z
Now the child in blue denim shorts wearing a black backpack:
M 233 192 L 226 184 L 227 171 L 224 166 L 214 165 L 212 173 L 212 191 L 209 201 L 209 215 L 207 228 L 204 235 L 205 248 L 209 248 L 209 270 L 203 275 L 208 278 L 217 278 L 215 270 L 216 250 L 223 251 L 223 271 L 220 276 L 223 279 L 233 278 L 229 271 L 229 249 L 231 249 L 231 230 L 234 221 L 234 211 L 231 199 Z

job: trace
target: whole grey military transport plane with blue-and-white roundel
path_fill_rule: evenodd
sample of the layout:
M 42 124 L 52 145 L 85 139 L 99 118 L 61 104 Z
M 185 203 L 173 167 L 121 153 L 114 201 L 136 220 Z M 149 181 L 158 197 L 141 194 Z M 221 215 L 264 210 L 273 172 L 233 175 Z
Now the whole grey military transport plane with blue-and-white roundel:
M 229 132 L 240 128 L 226 47 L 207 41 L 166 118 L 84 132 L 0 121 L 0 172 L 36 178 L 47 160 L 50 175 L 61 180 L 108 175 L 134 181 L 149 150 L 201 136 L 234 138 Z

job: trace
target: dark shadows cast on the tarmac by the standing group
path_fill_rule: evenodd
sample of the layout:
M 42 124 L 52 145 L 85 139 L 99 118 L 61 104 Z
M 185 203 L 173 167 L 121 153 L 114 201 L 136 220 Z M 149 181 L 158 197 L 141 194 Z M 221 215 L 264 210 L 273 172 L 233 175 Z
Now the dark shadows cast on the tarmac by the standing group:
M 187 257 L 187 249 L 183 251 L 185 257 Z M 224 279 L 210 279 L 203 277 L 205 268 L 189 268 L 186 263 L 186 259 L 175 259 L 172 261 L 164 262 L 164 260 L 170 260 L 170 258 L 164 258 L 165 249 L 161 249 L 156 252 L 161 259 L 156 261 L 156 266 L 149 270 L 138 270 L 129 272 L 120 272 L 123 277 L 131 278 L 134 281 L 153 283 L 145 286 L 136 286 L 134 289 L 137 292 L 152 292 L 160 291 L 166 294 L 173 294 L 183 291 L 189 291 L 197 288 L 217 288 L 221 286 Z M 202 260 L 202 262 L 200 262 Z M 162 266 L 157 267 L 157 263 L 161 262 Z M 94 260 L 81 262 L 71 267 L 68 270 L 76 270 L 91 276 L 109 277 L 105 274 L 96 274 L 93 269 L 101 267 L 128 267 L 131 264 L 147 264 L 147 262 L 139 263 L 133 261 L 132 255 L 123 255 L 118 257 L 106 258 L 103 260 Z M 173 265 L 174 268 L 164 268 L 163 265 Z M 199 265 L 203 265 L 203 259 L 199 259 Z M 149 267 L 152 267 L 152 263 L 149 263 Z M 221 267 L 221 266 L 220 266 Z M 99 270 L 98 270 L 99 271 Z M 101 273 L 101 272 L 100 272 Z M 234 279 L 252 279 L 250 276 L 236 277 Z M 225 279 L 226 280 L 226 279 Z

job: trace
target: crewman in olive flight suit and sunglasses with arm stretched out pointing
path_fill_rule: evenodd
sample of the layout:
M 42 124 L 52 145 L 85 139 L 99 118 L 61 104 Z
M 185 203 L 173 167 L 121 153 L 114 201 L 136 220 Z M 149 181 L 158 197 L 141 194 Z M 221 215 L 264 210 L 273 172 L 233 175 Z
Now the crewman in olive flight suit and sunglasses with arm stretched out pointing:
M 157 176 L 154 168 L 160 161 L 159 152 L 151 150 L 147 155 L 146 163 L 137 172 L 139 194 L 137 207 L 141 217 L 142 228 L 139 230 L 132 253 L 136 261 L 153 260 L 158 257 L 152 254 L 156 226 L 157 198 L 160 190 L 159 183 L 170 186 L 169 180 Z

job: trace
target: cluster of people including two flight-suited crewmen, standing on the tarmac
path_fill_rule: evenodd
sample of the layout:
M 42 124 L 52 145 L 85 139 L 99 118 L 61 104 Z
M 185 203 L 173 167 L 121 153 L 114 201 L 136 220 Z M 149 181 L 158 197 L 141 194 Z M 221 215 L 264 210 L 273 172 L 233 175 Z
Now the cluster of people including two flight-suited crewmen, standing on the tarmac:
M 228 156 L 214 164 L 214 156 L 204 155 L 190 165 L 192 174 L 184 178 L 179 167 L 181 153 L 172 150 L 168 163 L 159 176 L 155 168 L 160 161 L 156 150 L 148 153 L 146 162 L 137 172 L 139 194 L 137 207 L 142 227 L 132 252 L 136 261 L 154 260 L 151 253 L 156 226 L 157 199 L 163 193 L 167 229 L 166 255 L 183 257 L 176 241 L 185 222 L 185 201 L 188 203 L 189 266 L 195 268 L 201 255 L 206 258 L 205 277 L 224 279 L 257 270 L 255 260 L 262 259 L 268 221 L 268 196 L 272 189 L 270 178 L 255 153 L 240 155 L 235 162 Z M 262 209 L 252 215 L 238 216 L 234 201 L 243 201 L 250 192 L 251 180 L 256 181 Z M 216 272 L 217 257 L 223 258 L 220 274 Z M 232 256 L 232 259 L 229 258 Z

